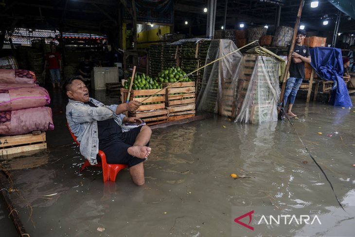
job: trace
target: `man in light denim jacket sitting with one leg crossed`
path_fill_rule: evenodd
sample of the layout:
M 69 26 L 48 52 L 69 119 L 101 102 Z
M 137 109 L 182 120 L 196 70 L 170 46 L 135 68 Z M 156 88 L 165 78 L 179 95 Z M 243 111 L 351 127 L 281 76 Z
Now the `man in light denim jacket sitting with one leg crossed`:
M 69 79 L 65 85 L 69 103 L 66 117 L 71 131 L 80 143 L 80 153 L 97 164 L 99 149 L 106 154 L 109 164 L 127 164 L 133 182 L 137 185 L 144 183 L 145 161 L 151 148 L 148 147 L 152 130 L 142 125 L 123 132 L 122 123 L 141 124 L 136 117 L 126 117 L 122 112 L 136 111 L 140 103 L 130 101 L 121 105 L 105 106 L 89 97 L 89 90 L 80 77 Z

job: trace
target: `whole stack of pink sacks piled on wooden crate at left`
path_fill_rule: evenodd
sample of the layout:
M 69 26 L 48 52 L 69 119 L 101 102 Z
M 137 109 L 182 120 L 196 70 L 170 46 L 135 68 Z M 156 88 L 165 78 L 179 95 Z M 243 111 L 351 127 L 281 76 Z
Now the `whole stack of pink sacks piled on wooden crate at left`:
M 0 69 L 0 135 L 53 130 L 48 91 L 36 84 L 35 73 Z

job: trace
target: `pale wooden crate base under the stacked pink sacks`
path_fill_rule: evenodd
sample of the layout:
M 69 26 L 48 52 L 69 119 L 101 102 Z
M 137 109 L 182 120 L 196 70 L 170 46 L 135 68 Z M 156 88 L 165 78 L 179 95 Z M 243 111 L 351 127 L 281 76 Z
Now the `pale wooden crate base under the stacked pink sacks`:
M 45 132 L 0 136 L 0 157 L 43 148 L 47 148 Z

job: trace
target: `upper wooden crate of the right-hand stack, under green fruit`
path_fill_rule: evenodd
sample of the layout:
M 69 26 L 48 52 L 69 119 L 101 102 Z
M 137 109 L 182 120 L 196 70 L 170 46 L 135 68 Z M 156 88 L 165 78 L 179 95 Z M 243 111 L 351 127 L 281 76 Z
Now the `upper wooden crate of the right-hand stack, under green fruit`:
M 173 83 L 163 83 L 167 87 Z M 182 94 L 175 94 L 182 93 Z M 166 89 L 165 104 L 167 107 L 195 103 L 195 82 L 178 82 Z

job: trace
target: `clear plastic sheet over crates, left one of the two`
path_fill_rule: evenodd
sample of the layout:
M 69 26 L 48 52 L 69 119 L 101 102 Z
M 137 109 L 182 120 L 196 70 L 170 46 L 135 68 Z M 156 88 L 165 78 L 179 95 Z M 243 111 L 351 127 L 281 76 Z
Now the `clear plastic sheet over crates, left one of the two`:
M 230 39 L 211 41 L 205 64 L 236 50 Z M 198 93 L 197 110 L 234 117 L 236 87 L 242 54 L 238 51 L 207 66 Z

